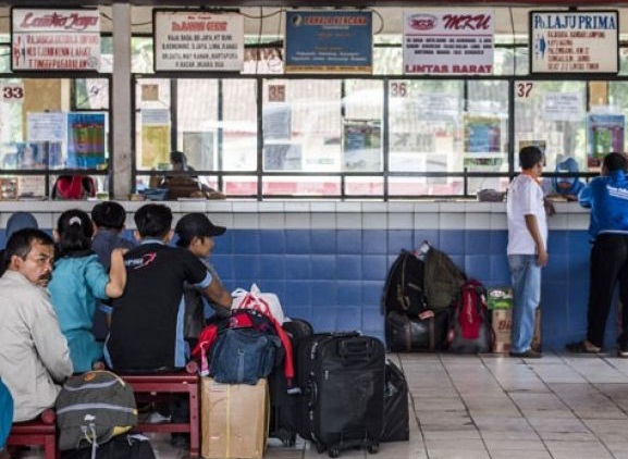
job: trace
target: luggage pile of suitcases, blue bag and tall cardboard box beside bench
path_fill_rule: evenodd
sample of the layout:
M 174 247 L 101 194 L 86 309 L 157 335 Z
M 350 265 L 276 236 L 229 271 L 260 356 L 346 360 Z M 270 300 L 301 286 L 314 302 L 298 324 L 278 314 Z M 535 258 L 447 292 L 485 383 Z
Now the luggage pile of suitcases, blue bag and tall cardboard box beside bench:
M 238 291 L 245 298 L 238 298 L 237 309 L 222 324 L 206 327 L 195 348 L 208 376 L 201 382 L 204 457 L 261 458 L 266 432 L 285 446 L 298 435 L 331 458 L 349 448 L 374 454 L 380 442 L 408 439 L 407 385 L 403 372 L 386 363 L 382 342 L 359 332 L 315 333 L 303 319 L 280 324 L 276 305 L 268 307 L 279 300 L 257 288 L 249 294 Z M 224 337 L 244 326 L 246 321 L 236 319 L 243 315 L 258 321 L 248 338 L 268 332 L 267 338 L 274 334 L 281 342 L 273 358 L 251 351 L 246 359 L 256 346 L 248 338 L 237 344 Z

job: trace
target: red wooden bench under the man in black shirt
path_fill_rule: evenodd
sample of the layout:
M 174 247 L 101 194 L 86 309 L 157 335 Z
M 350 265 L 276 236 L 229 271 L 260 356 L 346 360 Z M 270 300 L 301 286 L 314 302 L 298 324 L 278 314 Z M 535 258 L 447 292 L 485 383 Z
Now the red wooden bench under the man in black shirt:
M 143 432 L 175 433 L 189 432 L 189 456 L 197 458 L 200 451 L 199 421 L 199 379 L 196 372 L 158 373 L 158 374 L 121 374 L 132 387 L 138 400 L 163 394 L 187 394 L 189 400 L 189 420 L 185 423 L 161 422 L 139 423 Z M 144 397 L 143 397 L 144 396 Z M 48 458 L 47 458 L 48 459 Z

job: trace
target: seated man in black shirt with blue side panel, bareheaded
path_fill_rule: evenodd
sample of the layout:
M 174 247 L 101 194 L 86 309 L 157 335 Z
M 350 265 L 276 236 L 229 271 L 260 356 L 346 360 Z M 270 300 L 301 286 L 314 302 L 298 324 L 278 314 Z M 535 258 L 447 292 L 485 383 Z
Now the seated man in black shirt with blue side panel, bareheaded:
M 231 308 L 231 294 L 205 264 L 185 249 L 168 246 L 172 211 L 145 204 L 135 212 L 140 245 L 125 256 L 126 289 L 112 301 L 104 357 L 114 371 L 181 369 L 187 362 L 184 340 L 184 285 Z

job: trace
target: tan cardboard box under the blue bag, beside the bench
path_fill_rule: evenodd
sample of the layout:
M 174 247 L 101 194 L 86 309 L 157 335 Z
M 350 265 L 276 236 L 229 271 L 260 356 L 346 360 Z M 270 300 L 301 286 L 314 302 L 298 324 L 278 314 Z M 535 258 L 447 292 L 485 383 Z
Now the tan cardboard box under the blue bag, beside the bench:
M 200 381 L 201 456 L 261 459 L 266 451 L 269 398 L 266 380 L 249 384 Z

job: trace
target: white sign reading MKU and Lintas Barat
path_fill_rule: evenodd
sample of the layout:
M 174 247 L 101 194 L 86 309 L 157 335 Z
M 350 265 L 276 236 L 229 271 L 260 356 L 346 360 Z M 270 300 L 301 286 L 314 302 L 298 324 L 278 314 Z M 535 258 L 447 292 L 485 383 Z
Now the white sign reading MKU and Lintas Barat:
M 404 73 L 493 73 L 494 16 L 478 12 L 404 13 Z

